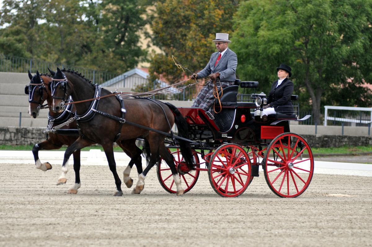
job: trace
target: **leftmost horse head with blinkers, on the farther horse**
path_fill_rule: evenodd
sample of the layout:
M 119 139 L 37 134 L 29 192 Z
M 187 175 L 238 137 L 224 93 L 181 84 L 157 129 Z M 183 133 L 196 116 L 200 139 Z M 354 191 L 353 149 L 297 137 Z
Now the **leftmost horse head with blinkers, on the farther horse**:
M 25 87 L 25 94 L 28 94 L 29 102 L 28 114 L 32 118 L 37 118 L 41 105 L 48 97 L 48 93 L 44 87 L 44 81 L 41 78 L 39 71 L 36 71 L 34 76 L 32 76 L 30 71 L 28 71 L 28 77 L 31 80 Z

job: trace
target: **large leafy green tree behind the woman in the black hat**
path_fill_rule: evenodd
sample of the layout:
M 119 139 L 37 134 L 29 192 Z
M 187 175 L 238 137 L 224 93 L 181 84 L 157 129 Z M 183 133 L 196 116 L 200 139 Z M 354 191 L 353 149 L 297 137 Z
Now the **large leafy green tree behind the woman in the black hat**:
M 232 48 L 240 76 L 269 91 L 280 63 L 292 67 L 295 93 L 309 95 L 320 123 L 324 103 L 371 106 L 371 0 L 250 0 L 234 17 Z M 369 62 L 369 65 L 366 64 Z M 344 98 L 339 99 L 342 95 Z M 301 97 L 300 97 L 301 99 Z M 352 100 L 350 100 L 352 99 Z

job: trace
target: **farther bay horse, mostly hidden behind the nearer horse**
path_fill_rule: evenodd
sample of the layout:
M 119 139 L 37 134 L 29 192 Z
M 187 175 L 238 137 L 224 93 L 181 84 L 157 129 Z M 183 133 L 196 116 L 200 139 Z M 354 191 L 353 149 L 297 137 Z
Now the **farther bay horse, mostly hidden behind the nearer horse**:
M 53 75 L 55 74 L 54 71 L 49 70 L 49 72 Z M 73 117 L 73 113 L 75 112 L 76 108 L 74 105 L 71 105 L 70 109 L 65 109 L 62 113 L 55 113 L 51 110 L 52 105 L 52 96 L 51 91 L 48 87 L 49 81 L 52 80 L 52 75 L 49 74 L 39 74 L 39 71 L 36 71 L 36 74 L 32 76 L 30 71 L 28 71 L 28 76 L 30 78 L 30 83 L 25 87 L 25 93 L 29 95 L 29 110 L 28 114 L 32 118 L 37 118 L 39 115 L 39 110 L 42 107 L 42 104 L 47 101 L 49 105 L 49 121 L 53 121 L 53 125 L 51 127 L 57 126 L 62 122 L 67 121 L 71 117 Z M 48 123 L 49 123 L 48 121 Z M 76 130 L 77 125 L 76 121 L 71 122 L 68 125 L 62 126 L 62 130 Z M 64 135 L 64 134 L 55 134 L 50 132 L 47 135 L 45 141 L 35 144 L 32 148 L 33 157 L 35 159 L 35 166 L 37 169 L 42 171 L 47 171 L 52 169 L 52 166 L 49 162 L 41 163 L 39 160 L 39 150 L 55 150 L 60 149 L 62 145 L 70 146 L 73 144 L 78 135 Z M 134 142 L 134 143 L 133 143 Z M 137 167 L 138 176 L 142 173 L 142 160 L 141 160 L 141 149 L 135 145 L 135 140 L 131 140 L 125 143 L 116 142 L 122 150 L 131 157 L 131 161 L 129 162 L 127 168 L 124 170 L 124 182 L 125 185 L 130 188 L 133 184 L 133 179 L 129 176 L 130 171 L 135 164 Z M 133 145 L 134 144 L 134 145 Z M 68 193 L 76 194 L 77 190 L 81 186 L 80 182 L 80 149 L 75 150 L 73 152 L 74 157 L 74 171 L 75 171 L 75 184 L 72 186 Z M 64 174 L 65 175 L 65 174 Z M 65 176 L 60 177 L 58 179 L 57 185 L 62 185 L 67 182 Z

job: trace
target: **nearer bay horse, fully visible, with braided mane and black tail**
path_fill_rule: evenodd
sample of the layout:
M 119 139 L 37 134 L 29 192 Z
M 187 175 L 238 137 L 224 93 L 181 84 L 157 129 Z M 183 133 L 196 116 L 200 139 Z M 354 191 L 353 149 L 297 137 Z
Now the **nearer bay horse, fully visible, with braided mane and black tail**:
M 138 177 L 137 185 L 132 193 L 141 193 L 148 171 L 158 163 L 161 156 L 171 169 L 177 186 L 177 195 L 183 195 L 185 190 L 182 189 L 173 156 L 164 144 L 166 134 L 171 131 L 174 122 L 178 127 L 179 135 L 188 138 L 186 120 L 175 106 L 148 98 L 103 97 L 112 93 L 98 85 L 94 86 L 77 72 L 60 70 L 59 68 L 57 68 L 49 87 L 52 92 L 52 110 L 54 112 L 62 112 L 65 102 L 70 96 L 75 102 L 84 101 L 75 104 L 80 137 L 66 149 L 62 173 L 67 172 L 68 159 L 75 150 L 87 147 L 92 143 L 101 144 L 115 179 L 116 192 L 114 196 L 121 196 L 123 194 L 121 180 L 116 172 L 112 142 L 116 138 L 121 142 L 127 142 L 142 137 L 146 140 L 144 146 L 149 147 L 149 150 L 144 152 L 148 158 L 148 166 Z M 95 100 L 85 101 L 93 98 Z M 125 120 L 123 119 L 124 113 Z M 118 119 L 121 120 L 118 121 Z M 134 125 L 128 123 L 134 123 Z M 195 160 L 190 144 L 185 140 L 180 140 L 179 143 L 187 167 L 190 170 L 194 169 Z

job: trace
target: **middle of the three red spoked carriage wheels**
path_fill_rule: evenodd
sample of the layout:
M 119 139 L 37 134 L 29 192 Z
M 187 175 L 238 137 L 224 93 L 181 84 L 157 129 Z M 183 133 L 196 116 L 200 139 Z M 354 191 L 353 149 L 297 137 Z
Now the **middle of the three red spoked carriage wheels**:
M 240 196 L 251 181 L 251 162 L 247 152 L 236 144 L 217 148 L 209 161 L 208 176 L 218 195 Z

